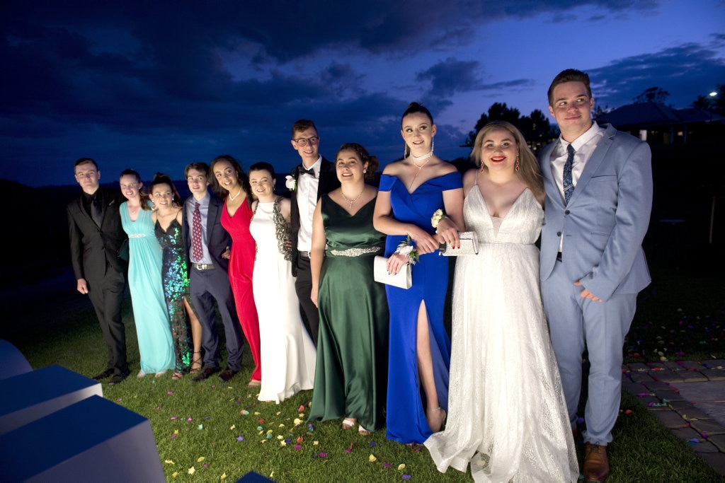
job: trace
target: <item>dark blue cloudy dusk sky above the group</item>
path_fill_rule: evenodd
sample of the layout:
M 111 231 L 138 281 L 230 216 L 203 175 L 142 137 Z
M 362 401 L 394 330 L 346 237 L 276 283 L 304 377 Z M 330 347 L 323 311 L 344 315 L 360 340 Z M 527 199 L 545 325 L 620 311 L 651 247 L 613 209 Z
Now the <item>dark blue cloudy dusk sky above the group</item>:
M 385 164 L 410 101 L 434 114 L 436 154 L 468 156 L 491 104 L 548 115 L 569 67 L 609 108 L 725 83 L 723 0 L 4 0 L 0 25 L 0 178 L 28 186 L 74 183 L 81 156 L 101 182 L 219 154 L 285 174 L 300 118 L 328 159 L 359 142 Z

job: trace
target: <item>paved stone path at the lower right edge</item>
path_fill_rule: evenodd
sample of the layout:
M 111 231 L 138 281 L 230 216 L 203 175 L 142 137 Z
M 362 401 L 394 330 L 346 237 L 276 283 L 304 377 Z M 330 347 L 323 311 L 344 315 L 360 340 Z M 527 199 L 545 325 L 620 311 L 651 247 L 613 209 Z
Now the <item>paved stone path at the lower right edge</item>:
M 622 388 L 725 476 L 725 359 L 626 364 Z

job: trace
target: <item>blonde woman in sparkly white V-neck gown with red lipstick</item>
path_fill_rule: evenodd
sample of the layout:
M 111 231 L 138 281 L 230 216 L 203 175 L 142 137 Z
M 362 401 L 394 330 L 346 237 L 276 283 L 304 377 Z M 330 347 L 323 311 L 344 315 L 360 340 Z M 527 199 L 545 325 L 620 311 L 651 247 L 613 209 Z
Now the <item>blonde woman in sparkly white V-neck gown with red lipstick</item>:
M 508 122 L 486 125 L 463 178 L 479 253 L 453 288 L 449 413 L 425 445 L 439 471 L 477 482 L 576 481 L 571 427 L 539 295 L 544 190 L 536 157 Z

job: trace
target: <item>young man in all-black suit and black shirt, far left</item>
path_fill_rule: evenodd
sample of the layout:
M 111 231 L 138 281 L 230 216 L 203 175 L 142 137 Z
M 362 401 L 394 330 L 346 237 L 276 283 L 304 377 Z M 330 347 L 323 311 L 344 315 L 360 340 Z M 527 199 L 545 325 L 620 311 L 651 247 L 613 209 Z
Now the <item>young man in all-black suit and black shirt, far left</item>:
M 127 260 L 121 251 L 128 237 L 118 211 L 124 198 L 120 190 L 100 188 L 101 172 L 96 161 L 75 161 L 75 180 L 83 195 L 67 206 L 70 261 L 78 292 L 91 299 L 108 348 L 107 369 L 94 379 L 111 377 L 114 385 L 128 376 L 126 332 L 121 303 L 126 285 Z

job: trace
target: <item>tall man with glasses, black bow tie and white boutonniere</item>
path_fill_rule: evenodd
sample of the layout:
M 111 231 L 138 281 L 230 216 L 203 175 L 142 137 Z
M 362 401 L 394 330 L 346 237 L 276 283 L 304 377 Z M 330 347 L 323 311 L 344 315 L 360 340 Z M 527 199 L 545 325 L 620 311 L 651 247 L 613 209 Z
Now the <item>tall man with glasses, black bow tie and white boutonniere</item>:
M 335 164 L 320 156 L 320 136 L 315 123 L 300 119 L 292 125 L 292 148 L 302 159 L 302 164 L 292 169 L 294 180 L 291 190 L 292 223 L 292 274 L 297 277 L 294 287 L 297 298 L 305 311 L 307 332 L 317 347 L 320 314 L 310 300 L 312 272 L 310 272 L 310 248 L 312 248 L 312 214 L 321 196 L 339 188 Z M 289 186 L 288 186 L 289 188 Z

